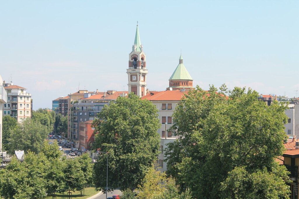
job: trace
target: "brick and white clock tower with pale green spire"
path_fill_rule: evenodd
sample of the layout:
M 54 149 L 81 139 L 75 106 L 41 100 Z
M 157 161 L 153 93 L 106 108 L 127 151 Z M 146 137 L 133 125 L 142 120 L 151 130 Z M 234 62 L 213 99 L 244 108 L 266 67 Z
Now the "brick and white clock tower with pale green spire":
M 138 24 L 136 28 L 135 41 L 132 46 L 132 52 L 129 54 L 128 91 L 134 92 L 139 97 L 147 93 L 147 69 L 146 56 L 143 52 L 143 46 L 140 41 Z

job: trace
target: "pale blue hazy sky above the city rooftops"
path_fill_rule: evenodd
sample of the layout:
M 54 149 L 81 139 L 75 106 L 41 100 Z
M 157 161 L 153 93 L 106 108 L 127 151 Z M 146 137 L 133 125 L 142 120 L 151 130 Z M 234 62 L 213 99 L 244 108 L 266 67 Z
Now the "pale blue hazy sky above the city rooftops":
M 79 89 L 128 90 L 136 21 L 147 87 L 165 90 L 179 64 L 210 84 L 299 96 L 299 1 L 4 1 L 0 75 L 33 109 Z M 79 86 L 80 83 L 80 86 Z

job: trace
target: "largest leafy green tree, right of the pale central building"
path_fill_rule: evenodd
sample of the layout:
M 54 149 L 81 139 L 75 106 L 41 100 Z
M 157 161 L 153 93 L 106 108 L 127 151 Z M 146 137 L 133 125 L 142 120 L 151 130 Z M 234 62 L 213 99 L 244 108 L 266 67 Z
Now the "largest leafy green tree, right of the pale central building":
M 196 198 L 221 198 L 227 190 L 222 186 L 228 184 L 222 182 L 231 182 L 229 172 L 242 166 L 248 176 L 272 178 L 276 192 L 269 197 L 277 197 L 287 176 L 271 174 L 278 169 L 274 158 L 284 150 L 286 107 L 276 101 L 267 106 L 251 89 L 228 91 L 223 85 L 217 91 L 213 86 L 209 91 L 197 87 L 176 107 L 171 130 L 179 139 L 165 149 L 168 175 Z M 269 183 L 263 186 L 271 189 Z M 247 196 L 251 191 L 246 190 Z M 287 190 L 281 191 L 285 198 Z

